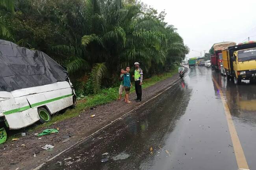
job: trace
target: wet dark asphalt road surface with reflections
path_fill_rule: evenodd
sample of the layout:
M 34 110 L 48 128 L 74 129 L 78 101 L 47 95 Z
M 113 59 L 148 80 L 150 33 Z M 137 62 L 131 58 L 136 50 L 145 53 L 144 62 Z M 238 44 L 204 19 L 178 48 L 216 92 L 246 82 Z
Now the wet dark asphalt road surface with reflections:
M 191 68 L 171 89 L 41 169 L 237 170 L 213 79 L 228 103 L 249 168 L 256 169 L 256 85 L 236 86 L 205 67 Z

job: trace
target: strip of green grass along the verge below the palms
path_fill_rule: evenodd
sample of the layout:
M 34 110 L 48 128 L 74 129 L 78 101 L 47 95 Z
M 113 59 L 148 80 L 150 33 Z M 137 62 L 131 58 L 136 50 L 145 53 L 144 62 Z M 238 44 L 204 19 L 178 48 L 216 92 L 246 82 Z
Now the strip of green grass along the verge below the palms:
M 156 84 L 159 81 L 165 80 L 167 78 L 172 77 L 174 74 L 177 74 L 178 69 L 174 69 L 171 72 L 166 72 L 164 74 L 153 76 L 152 78 L 143 80 L 143 88 L 150 87 Z M 52 117 L 52 120 L 48 123 L 44 123 L 42 125 L 38 125 L 37 127 L 33 127 L 29 129 L 29 132 L 34 130 L 39 130 L 41 128 L 47 128 L 53 125 L 54 122 L 63 121 L 65 119 L 73 118 L 78 116 L 83 110 L 89 109 L 91 107 L 96 107 L 98 105 L 110 103 L 111 101 L 115 101 L 118 97 L 119 87 L 102 89 L 98 94 L 94 94 L 92 96 L 85 97 L 80 100 L 74 109 L 67 109 L 63 114 L 55 115 Z M 134 92 L 135 88 L 131 89 L 131 92 Z

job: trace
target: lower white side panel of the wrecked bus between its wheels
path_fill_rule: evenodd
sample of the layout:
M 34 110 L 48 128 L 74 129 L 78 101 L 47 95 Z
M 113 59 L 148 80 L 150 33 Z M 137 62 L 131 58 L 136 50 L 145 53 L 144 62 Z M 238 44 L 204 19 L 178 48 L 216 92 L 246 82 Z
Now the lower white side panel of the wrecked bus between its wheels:
M 32 125 L 39 120 L 37 108 L 5 115 L 10 129 L 20 129 Z

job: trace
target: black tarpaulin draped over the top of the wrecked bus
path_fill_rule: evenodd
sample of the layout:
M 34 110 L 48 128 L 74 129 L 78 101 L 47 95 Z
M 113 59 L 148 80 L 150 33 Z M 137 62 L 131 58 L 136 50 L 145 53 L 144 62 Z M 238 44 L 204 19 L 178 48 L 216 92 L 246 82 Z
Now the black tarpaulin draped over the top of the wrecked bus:
M 0 40 L 0 91 L 65 81 L 67 71 L 42 51 Z

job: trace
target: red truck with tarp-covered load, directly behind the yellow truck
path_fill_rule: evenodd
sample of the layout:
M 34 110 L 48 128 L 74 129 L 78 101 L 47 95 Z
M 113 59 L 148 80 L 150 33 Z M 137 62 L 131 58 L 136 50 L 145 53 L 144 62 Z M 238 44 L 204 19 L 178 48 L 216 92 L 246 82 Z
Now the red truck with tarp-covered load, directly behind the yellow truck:
M 214 51 L 213 55 L 211 55 L 211 68 L 215 69 L 216 71 L 219 71 L 221 69 L 220 67 L 220 59 L 219 54 L 221 54 L 221 50 L 225 49 L 226 47 L 236 45 L 235 42 L 221 42 L 221 43 L 215 43 L 211 47 Z

